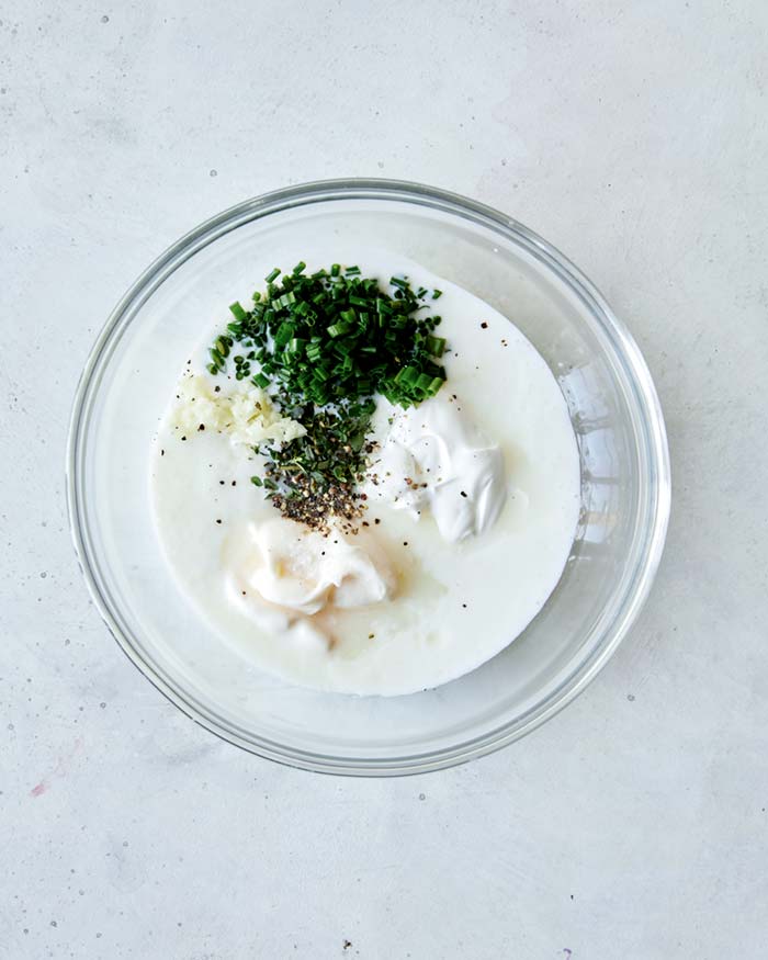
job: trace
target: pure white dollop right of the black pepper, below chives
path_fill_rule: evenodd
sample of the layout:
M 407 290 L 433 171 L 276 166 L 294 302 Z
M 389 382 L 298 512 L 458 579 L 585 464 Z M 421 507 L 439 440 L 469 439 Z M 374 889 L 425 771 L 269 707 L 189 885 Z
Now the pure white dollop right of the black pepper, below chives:
M 459 403 L 438 394 L 403 410 L 381 400 L 376 415 L 382 436 L 364 487 L 369 500 L 416 520 L 429 510 L 451 543 L 495 523 L 507 498 L 504 458 Z

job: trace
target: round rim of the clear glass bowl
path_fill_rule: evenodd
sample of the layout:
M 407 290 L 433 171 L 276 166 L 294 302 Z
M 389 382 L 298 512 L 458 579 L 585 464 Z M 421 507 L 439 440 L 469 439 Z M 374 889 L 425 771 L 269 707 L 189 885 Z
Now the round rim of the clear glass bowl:
M 163 670 L 150 663 L 137 650 L 129 631 L 121 624 L 120 610 L 116 605 L 112 605 L 109 592 L 100 584 L 98 557 L 91 547 L 87 524 L 82 519 L 83 507 L 80 496 L 80 463 L 83 455 L 83 432 L 88 422 L 84 414 L 98 388 L 100 366 L 109 357 L 110 348 L 114 347 L 116 339 L 122 335 L 121 323 L 125 320 L 129 309 L 136 308 L 148 300 L 154 291 L 190 257 L 242 224 L 290 207 L 350 199 L 399 200 L 438 208 L 474 221 L 486 228 L 490 227 L 529 251 L 535 252 L 540 261 L 558 274 L 560 279 L 586 302 L 592 317 L 613 341 L 617 358 L 623 361 L 628 382 L 635 394 L 635 403 L 644 414 L 641 426 L 646 433 L 646 454 L 650 472 L 653 474 L 653 482 L 645 490 L 646 532 L 643 550 L 629 578 L 621 602 L 614 605 L 619 609 L 611 622 L 600 625 L 602 637 L 591 647 L 589 655 L 555 691 L 515 721 L 501 724 L 481 736 L 431 753 L 410 754 L 396 758 L 350 759 L 345 756 L 320 755 L 282 746 L 244 730 L 238 731 L 224 718 L 217 719 L 212 710 L 190 702 L 173 679 L 163 675 Z M 129 319 L 126 324 L 128 323 Z M 512 217 L 486 204 L 421 183 L 380 178 L 318 180 L 260 194 L 215 214 L 160 253 L 118 301 L 88 355 L 72 402 L 66 449 L 65 485 L 75 552 L 93 602 L 128 659 L 165 697 L 205 730 L 266 759 L 315 772 L 368 777 L 423 773 L 467 763 L 519 739 L 571 703 L 612 656 L 645 603 L 664 551 L 671 504 L 666 428 L 651 372 L 631 334 L 614 315 L 595 284 L 549 241 Z

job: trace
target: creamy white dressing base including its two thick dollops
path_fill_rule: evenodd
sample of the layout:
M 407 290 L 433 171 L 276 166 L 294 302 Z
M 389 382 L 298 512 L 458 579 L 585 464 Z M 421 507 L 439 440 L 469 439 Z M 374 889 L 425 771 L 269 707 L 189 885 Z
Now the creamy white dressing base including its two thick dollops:
M 154 501 L 178 583 L 224 642 L 292 682 L 407 693 L 484 663 L 544 605 L 576 528 L 578 454 L 552 373 L 509 320 L 398 256 L 358 261 L 368 275 L 402 271 L 415 286 L 441 289 L 430 306 L 449 341 L 436 398 L 407 411 L 379 404 L 370 526 L 324 538 L 280 518 L 249 482 L 262 459 L 233 433 L 276 436 L 293 421 L 266 407 L 244 423 L 242 385 L 207 374 L 207 392 L 195 377 L 193 393 L 213 398 L 212 427 L 192 429 L 202 408 L 183 413 L 173 398 L 157 438 Z M 203 369 L 224 313 L 192 370 Z M 179 395 L 189 407 L 190 391 Z

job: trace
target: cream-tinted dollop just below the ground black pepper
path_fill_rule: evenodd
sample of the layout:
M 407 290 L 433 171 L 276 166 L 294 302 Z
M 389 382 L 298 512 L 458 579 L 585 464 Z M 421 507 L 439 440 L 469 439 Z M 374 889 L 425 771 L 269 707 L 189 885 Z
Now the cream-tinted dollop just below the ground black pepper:
M 305 637 L 324 634 L 304 618 L 380 603 L 395 589 L 388 561 L 372 538 L 347 537 L 336 527 L 324 534 L 284 517 L 249 523 L 225 563 L 231 600 L 247 605 L 263 626 L 298 628 Z

